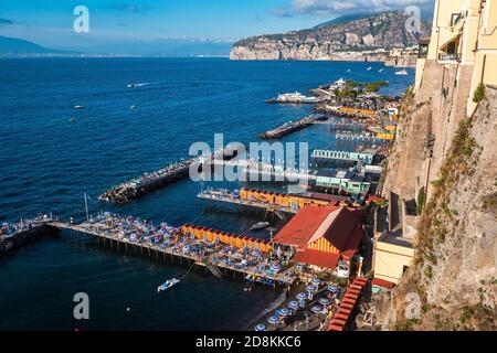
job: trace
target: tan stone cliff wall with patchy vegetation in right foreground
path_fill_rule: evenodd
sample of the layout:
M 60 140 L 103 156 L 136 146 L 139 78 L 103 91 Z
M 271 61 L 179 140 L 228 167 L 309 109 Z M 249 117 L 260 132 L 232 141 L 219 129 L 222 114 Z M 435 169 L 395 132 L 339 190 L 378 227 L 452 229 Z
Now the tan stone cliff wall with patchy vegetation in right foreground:
M 467 117 L 470 67 L 426 63 L 408 95 L 384 194 L 427 203 L 415 228 L 415 263 L 392 293 L 390 329 L 495 330 L 497 318 L 497 89 Z M 406 296 L 421 318 L 406 319 Z

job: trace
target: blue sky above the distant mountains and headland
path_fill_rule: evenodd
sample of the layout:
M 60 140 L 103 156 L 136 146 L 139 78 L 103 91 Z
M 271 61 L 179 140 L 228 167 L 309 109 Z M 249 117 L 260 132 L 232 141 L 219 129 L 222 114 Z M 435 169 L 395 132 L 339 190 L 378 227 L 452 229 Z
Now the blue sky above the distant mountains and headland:
M 2 0 L 0 35 L 52 49 L 158 39 L 224 42 L 411 4 L 432 9 L 433 0 Z M 88 9 L 87 33 L 73 30 L 77 6 Z

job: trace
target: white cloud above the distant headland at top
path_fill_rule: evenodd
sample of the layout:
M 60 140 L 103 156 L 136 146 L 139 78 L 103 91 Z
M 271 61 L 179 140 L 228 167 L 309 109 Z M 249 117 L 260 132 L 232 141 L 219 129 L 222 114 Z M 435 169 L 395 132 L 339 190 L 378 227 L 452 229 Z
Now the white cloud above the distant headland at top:
M 282 15 L 310 14 L 332 15 L 359 12 L 403 10 L 409 6 L 426 7 L 434 0 L 290 0 L 285 9 L 275 13 Z

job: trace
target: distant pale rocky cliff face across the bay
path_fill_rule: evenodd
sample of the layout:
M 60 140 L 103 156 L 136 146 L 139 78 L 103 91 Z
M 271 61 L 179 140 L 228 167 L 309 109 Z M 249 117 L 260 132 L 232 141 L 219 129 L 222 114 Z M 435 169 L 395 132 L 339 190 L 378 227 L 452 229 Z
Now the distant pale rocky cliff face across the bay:
M 363 19 L 286 34 L 258 35 L 233 45 L 232 60 L 340 60 L 339 52 L 417 45 L 405 30 L 408 15 L 384 12 Z M 427 33 L 422 22 L 421 35 Z

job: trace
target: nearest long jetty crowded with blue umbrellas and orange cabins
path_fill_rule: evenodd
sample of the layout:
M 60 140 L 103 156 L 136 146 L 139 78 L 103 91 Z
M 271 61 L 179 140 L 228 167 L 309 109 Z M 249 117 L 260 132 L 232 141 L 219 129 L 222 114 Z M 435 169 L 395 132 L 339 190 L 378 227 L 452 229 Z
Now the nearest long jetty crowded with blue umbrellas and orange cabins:
M 53 217 L 39 218 L 35 227 L 23 229 L 22 233 L 34 231 L 39 235 L 44 232 L 70 231 L 76 238 L 82 235 L 81 238 L 84 236 L 85 240 L 93 239 L 119 252 L 184 263 L 204 268 L 216 277 L 232 274 L 234 278 L 239 275 L 245 279 L 250 276 L 271 286 L 292 285 L 297 278 L 293 265 L 282 264 L 283 259 L 275 254 L 271 240 L 204 226 L 186 224 L 175 227 L 167 223 L 155 226 L 138 217 L 120 217 L 105 212 L 78 224 Z M 15 234 L 19 236 L 20 233 Z

